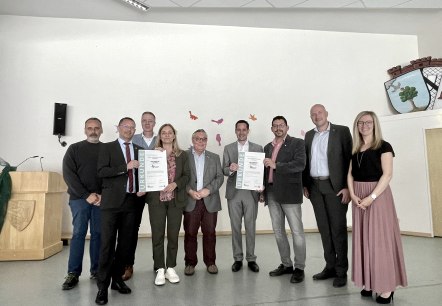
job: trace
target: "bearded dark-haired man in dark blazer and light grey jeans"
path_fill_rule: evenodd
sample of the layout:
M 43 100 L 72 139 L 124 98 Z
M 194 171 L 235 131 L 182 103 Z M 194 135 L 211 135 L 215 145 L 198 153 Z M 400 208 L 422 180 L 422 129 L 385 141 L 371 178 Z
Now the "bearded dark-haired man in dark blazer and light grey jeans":
M 290 282 L 300 283 L 304 280 L 306 257 L 301 210 L 302 171 L 305 167 L 304 140 L 287 135 L 289 126 L 283 116 L 273 118 L 271 130 L 275 138 L 264 147 L 264 194 L 282 263 L 269 274 L 292 274 Z M 285 231 L 286 218 L 293 237 L 295 269 Z

